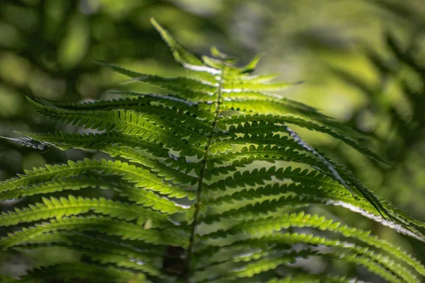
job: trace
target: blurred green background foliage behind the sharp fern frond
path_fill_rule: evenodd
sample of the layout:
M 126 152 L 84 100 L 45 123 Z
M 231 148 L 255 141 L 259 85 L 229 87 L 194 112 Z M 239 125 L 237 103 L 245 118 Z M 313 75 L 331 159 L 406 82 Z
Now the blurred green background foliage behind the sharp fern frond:
M 149 91 L 120 84 L 125 77 L 94 59 L 149 74 L 179 74 L 150 17 L 199 54 L 210 45 L 240 55 L 242 62 L 264 53 L 259 72 L 305 81 L 282 95 L 367 132 L 371 139 L 365 143 L 394 167 L 382 168 L 319 134 L 306 139 L 351 168 L 378 196 L 425 220 L 424 0 L 0 0 L 0 135 L 79 131 L 38 115 L 25 96 L 82 101 L 113 98 L 107 92 L 112 88 Z M 40 152 L 0 140 L 0 180 L 85 156 L 98 154 Z M 33 201 L 1 202 L 0 210 Z M 343 209 L 326 213 L 370 229 L 425 262 L 421 243 Z M 19 275 L 45 262 L 76 259 L 63 250 L 26 257 L 4 253 L 0 272 Z M 310 268 L 356 271 L 338 262 Z

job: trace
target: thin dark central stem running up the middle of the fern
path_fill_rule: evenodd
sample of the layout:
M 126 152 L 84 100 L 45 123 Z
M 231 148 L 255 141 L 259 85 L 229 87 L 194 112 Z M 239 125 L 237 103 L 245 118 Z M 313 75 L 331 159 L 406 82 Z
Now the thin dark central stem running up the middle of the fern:
M 183 271 L 183 277 L 185 282 L 189 282 L 189 279 L 193 272 L 193 270 L 191 269 L 191 258 L 192 258 L 193 245 L 195 243 L 196 226 L 198 226 L 198 216 L 199 216 L 200 205 L 201 205 L 200 197 L 201 197 L 202 188 L 203 188 L 202 185 L 203 185 L 203 179 L 205 176 L 205 168 L 207 167 L 207 162 L 208 162 L 208 154 L 210 152 L 210 144 L 212 141 L 212 137 L 214 136 L 215 129 L 217 127 L 218 117 L 220 115 L 220 104 L 222 100 L 222 85 L 223 85 L 224 75 L 225 75 L 225 70 L 222 69 L 222 76 L 220 76 L 219 85 L 217 86 L 217 100 L 215 101 L 215 115 L 214 115 L 214 120 L 212 120 L 212 129 L 210 133 L 208 134 L 208 141 L 207 141 L 207 144 L 205 144 L 205 149 L 203 152 L 203 161 L 200 167 L 198 188 L 196 191 L 196 202 L 194 204 L 195 212 L 193 213 L 191 237 L 189 239 L 189 246 L 188 246 L 187 256 L 186 256 L 186 267 L 185 267 L 186 270 Z

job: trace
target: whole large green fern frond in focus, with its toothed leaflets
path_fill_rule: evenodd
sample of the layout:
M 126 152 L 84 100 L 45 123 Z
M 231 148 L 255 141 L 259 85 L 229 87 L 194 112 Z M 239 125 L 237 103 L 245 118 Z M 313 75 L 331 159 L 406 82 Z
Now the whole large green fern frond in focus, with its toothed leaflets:
M 0 184 L 1 200 L 73 191 L 1 214 L 2 226 L 28 224 L 1 238 L 3 250 L 59 246 L 83 255 L 2 282 L 361 282 L 293 265 L 314 257 L 361 266 L 387 282 L 421 281 L 424 265 L 392 243 L 305 212 L 311 204 L 344 207 L 425 241 L 417 230 L 423 223 L 380 202 L 290 127 L 328 134 L 385 162 L 358 143 L 360 133 L 273 94 L 291 84 L 251 75 L 259 57 L 236 67 L 213 47 L 214 58 L 200 59 L 152 23 L 185 76 L 99 63 L 171 94 L 115 91 L 125 98 L 77 104 L 30 99 L 48 117 L 97 132 L 11 140 L 113 158 L 47 165 Z M 115 196 L 78 196 L 96 187 Z

